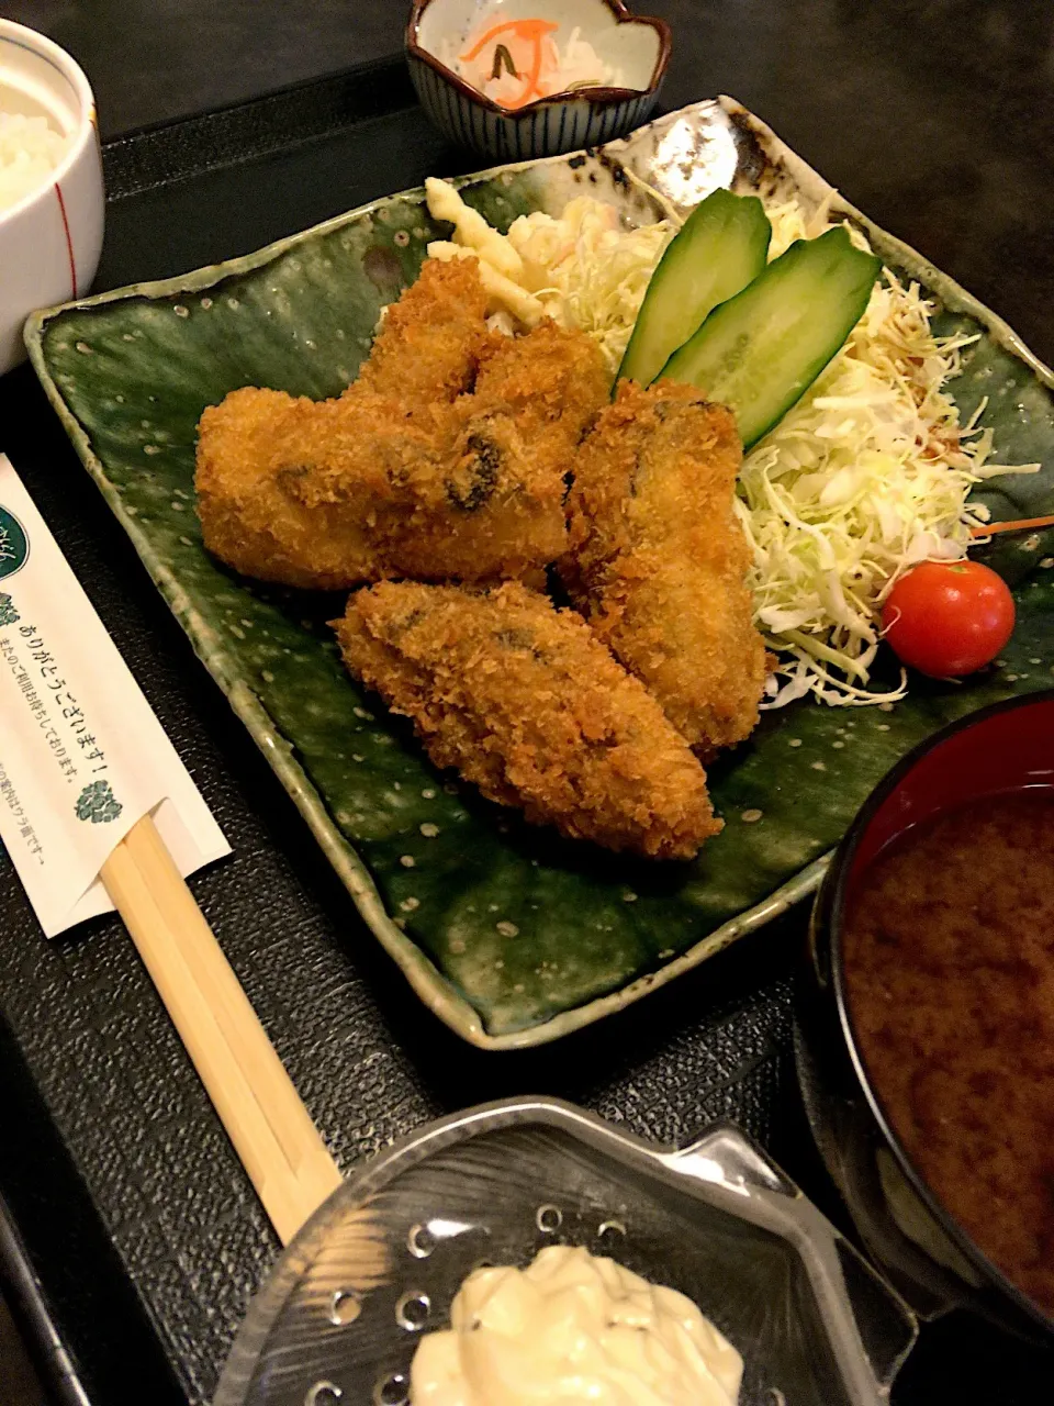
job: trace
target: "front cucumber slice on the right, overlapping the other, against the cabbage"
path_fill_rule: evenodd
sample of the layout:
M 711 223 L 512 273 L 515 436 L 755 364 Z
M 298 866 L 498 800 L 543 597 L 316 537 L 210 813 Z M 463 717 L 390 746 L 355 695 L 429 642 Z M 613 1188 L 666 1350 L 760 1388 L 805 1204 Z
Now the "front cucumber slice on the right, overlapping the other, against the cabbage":
M 812 385 L 863 316 L 883 262 L 843 226 L 798 239 L 742 292 L 714 308 L 662 375 L 735 412 L 743 449 Z

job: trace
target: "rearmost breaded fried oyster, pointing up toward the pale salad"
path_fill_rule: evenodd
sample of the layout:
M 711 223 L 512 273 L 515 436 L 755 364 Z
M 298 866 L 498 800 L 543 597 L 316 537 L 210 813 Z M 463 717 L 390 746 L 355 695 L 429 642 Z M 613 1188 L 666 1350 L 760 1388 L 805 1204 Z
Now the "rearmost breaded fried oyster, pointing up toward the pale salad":
M 426 260 L 388 308 L 370 360 L 344 395 L 372 391 L 416 413 L 472 388 L 490 333 L 486 292 L 475 264 Z

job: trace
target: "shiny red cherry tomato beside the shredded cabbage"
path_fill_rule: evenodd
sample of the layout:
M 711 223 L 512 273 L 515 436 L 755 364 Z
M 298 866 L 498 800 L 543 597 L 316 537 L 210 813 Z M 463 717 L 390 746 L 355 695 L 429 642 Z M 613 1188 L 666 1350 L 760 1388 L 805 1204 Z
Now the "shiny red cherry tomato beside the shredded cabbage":
M 984 668 L 1013 634 L 1013 596 L 980 561 L 923 561 L 883 606 L 885 640 L 935 679 Z

